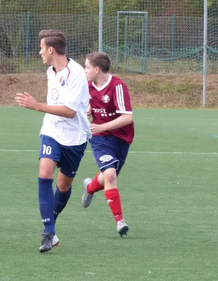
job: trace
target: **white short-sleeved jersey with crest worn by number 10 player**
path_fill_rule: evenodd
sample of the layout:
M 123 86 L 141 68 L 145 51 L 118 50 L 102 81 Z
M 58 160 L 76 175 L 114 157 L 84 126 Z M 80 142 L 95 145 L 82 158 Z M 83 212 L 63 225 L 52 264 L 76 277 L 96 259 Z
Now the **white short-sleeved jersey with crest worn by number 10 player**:
M 69 59 L 68 65 L 55 72 L 51 66 L 47 71 L 48 105 L 65 105 L 76 111 L 73 118 L 46 113 L 40 134 L 54 138 L 61 145 L 81 145 L 91 138 L 87 118 L 89 103 L 88 81 L 83 67 Z

